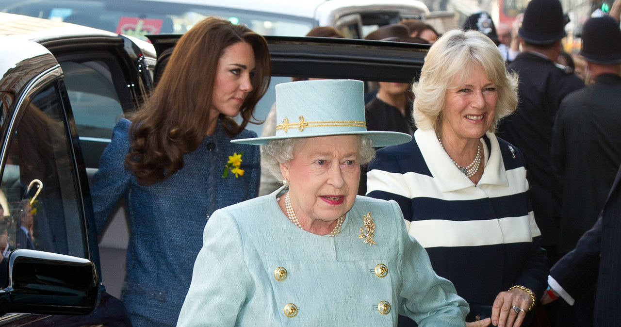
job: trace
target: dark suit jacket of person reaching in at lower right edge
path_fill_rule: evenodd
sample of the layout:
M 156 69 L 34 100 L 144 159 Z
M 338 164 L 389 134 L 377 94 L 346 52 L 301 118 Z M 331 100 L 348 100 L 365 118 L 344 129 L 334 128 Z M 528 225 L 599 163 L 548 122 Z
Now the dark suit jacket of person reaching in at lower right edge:
M 621 169 L 599 220 L 550 275 L 573 298 L 597 284 L 594 326 L 621 326 Z

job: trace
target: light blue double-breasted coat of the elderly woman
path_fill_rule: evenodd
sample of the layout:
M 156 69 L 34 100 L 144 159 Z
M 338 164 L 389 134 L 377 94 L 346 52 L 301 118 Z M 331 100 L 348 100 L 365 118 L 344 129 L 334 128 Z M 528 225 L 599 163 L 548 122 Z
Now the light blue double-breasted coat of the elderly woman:
M 214 212 L 178 326 L 395 326 L 399 313 L 419 326 L 465 326 L 468 304 L 432 271 L 396 202 L 356 197 L 330 237 L 289 222 L 279 192 Z M 373 245 L 358 238 L 369 212 Z M 378 264 L 388 274 L 379 277 Z M 286 315 L 289 304 L 295 316 Z

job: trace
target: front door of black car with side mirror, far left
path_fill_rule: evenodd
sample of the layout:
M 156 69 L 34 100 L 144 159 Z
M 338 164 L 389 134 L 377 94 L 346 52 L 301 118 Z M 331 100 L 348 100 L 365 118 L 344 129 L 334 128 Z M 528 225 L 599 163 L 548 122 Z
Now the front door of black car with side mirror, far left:
M 93 209 L 63 71 L 37 43 L 5 36 L 0 43 L 0 325 L 63 325 L 76 314 L 127 323 L 119 300 L 99 287 Z M 101 310 L 91 313 L 97 302 Z

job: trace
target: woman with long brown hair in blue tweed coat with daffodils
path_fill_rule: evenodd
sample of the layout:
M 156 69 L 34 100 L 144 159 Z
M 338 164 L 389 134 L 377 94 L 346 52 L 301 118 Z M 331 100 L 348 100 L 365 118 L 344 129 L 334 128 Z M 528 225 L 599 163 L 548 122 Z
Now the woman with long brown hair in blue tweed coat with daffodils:
M 134 326 L 175 325 L 210 215 L 256 197 L 259 149 L 230 140 L 256 137 L 244 127 L 269 82 L 265 39 L 207 17 L 179 39 L 147 103 L 114 128 L 93 207 L 101 233 L 125 199 L 122 300 Z

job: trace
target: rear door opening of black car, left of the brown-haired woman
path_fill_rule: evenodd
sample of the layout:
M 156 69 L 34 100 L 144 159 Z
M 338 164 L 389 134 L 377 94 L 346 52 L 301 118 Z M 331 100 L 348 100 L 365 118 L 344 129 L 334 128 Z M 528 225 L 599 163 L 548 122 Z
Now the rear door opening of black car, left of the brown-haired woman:
M 63 69 L 84 161 L 93 174 L 119 117 L 138 109 L 152 91 L 150 65 L 142 50 L 120 35 L 68 35 L 37 42 Z

